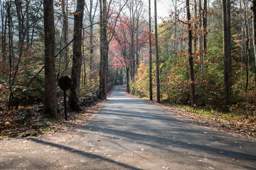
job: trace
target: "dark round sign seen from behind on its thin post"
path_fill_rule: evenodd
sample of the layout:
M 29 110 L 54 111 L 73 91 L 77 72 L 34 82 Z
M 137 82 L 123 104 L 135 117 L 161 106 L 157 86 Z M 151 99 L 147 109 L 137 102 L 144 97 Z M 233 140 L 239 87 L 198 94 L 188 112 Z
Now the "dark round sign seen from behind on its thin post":
M 66 90 L 70 89 L 71 87 L 71 79 L 68 76 L 60 77 L 58 80 L 58 86 L 64 91 L 65 120 L 68 120 Z

